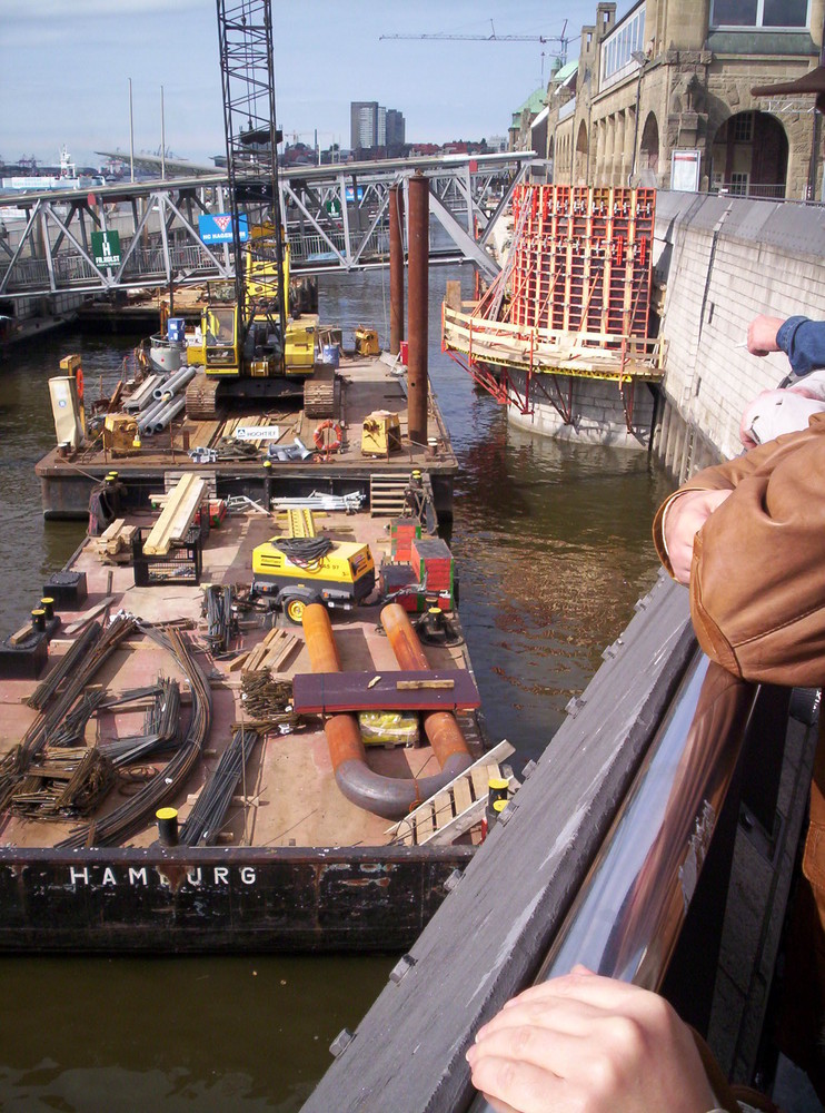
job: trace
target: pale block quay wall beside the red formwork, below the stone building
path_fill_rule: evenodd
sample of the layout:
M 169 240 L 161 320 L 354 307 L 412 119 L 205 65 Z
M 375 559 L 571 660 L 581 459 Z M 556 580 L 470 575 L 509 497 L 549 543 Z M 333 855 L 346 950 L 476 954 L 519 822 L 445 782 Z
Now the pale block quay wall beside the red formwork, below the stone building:
M 825 209 L 664 191 L 656 205 L 654 265 L 666 286 L 668 347 L 653 446 L 682 479 L 713 454 L 737 455 L 744 407 L 789 371 L 782 353 L 747 352 L 751 319 L 825 317 Z M 702 452 L 693 453 L 692 440 Z

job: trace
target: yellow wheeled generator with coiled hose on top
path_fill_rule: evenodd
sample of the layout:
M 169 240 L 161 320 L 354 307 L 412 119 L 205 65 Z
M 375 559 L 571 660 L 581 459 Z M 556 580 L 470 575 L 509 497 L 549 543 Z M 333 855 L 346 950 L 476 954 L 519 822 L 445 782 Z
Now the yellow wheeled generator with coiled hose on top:
M 309 603 L 350 610 L 375 587 L 368 545 L 329 538 L 272 538 L 252 550 L 252 594 L 268 598 L 290 622 Z

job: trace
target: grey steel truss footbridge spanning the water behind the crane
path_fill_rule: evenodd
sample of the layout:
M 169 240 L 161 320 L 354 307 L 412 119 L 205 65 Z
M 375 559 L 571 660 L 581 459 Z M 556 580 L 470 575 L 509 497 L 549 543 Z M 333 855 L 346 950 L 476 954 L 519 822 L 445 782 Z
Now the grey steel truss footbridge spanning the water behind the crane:
M 429 180 L 431 257 L 469 260 L 493 278 L 499 270 L 488 250 L 493 227 L 516 185 L 529 177 L 546 180 L 547 164 L 531 151 L 509 151 L 281 169 L 292 273 L 385 266 L 389 190 L 400 185 L 406 201 L 415 174 Z M 0 206 L 12 207 L 4 213 L 0 207 L 0 297 L 106 294 L 233 277 L 229 246 L 208 246 L 198 232 L 199 216 L 228 210 L 227 178 L 220 174 L 103 186 L 89 194 L 7 195 Z M 266 211 L 258 203 L 247 215 L 256 224 Z M 112 230 L 119 235 L 119 260 L 96 263 L 91 234 Z

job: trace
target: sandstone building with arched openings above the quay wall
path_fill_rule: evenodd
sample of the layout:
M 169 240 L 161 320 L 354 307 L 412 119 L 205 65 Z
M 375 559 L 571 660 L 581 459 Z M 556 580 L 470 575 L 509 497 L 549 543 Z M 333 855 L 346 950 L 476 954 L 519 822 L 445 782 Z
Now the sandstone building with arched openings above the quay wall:
M 753 97 L 822 48 L 825 0 L 599 3 L 547 90 L 557 183 L 822 196 L 813 96 Z

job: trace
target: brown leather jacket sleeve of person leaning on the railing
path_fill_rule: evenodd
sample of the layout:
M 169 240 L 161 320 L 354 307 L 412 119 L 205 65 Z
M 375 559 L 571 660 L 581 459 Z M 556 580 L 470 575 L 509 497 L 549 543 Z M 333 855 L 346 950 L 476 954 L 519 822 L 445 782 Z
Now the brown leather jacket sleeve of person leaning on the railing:
M 690 614 L 709 658 L 745 680 L 825 683 L 825 414 L 808 429 L 694 475 L 686 491 L 733 494 L 695 536 Z

